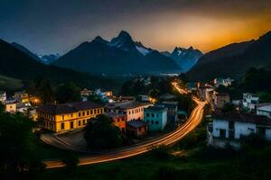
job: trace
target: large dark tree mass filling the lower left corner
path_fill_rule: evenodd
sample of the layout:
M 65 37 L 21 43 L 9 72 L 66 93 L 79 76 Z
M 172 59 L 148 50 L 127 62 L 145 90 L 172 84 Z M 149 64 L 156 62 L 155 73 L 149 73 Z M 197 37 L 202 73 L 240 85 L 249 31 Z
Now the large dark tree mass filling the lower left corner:
M 35 144 L 33 121 L 21 113 L 0 113 L 0 172 L 44 168 Z

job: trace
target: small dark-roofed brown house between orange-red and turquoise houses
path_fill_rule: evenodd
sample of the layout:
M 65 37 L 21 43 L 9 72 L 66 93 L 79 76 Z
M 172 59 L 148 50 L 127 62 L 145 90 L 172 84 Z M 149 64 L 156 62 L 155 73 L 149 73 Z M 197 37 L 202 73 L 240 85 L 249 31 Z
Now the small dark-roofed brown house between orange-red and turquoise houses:
M 147 134 L 148 124 L 145 121 L 127 121 L 127 134 L 135 137 L 142 137 Z

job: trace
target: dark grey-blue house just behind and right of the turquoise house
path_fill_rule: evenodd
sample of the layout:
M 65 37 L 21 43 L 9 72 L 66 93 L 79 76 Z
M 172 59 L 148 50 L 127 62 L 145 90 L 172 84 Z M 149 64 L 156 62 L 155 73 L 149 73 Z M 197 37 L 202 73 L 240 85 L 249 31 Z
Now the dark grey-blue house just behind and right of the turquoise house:
M 156 106 L 164 107 L 167 110 L 167 121 L 176 122 L 178 119 L 178 102 L 164 101 L 162 103 L 157 103 Z

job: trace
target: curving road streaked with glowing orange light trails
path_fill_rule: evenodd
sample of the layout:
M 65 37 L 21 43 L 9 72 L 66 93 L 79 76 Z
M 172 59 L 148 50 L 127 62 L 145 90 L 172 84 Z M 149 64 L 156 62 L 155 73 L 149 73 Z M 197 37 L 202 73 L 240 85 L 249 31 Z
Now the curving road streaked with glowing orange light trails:
M 175 89 L 181 94 L 187 94 L 187 91 L 183 90 L 178 84 L 173 83 Z M 177 130 L 164 135 L 163 137 L 152 139 L 141 144 L 137 144 L 133 147 L 127 147 L 123 149 L 117 149 L 109 151 L 107 154 L 89 157 L 79 157 L 79 166 L 98 164 L 102 162 L 109 162 L 117 159 L 122 159 L 126 157 L 134 157 L 139 154 L 143 154 L 152 148 L 158 147 L 160 145 L 173 145 L 180 139 L 182 139 L 186 134 L 194 130 L 200 123 L 203 115 L 203 107 L 205 102 L 201 102 L 196 97 L 192 98 L 197 106 L 191 113 L 189 119 L 182 124 Z M 52 160 L 44 162 L 47 168 L 63 167 L 65 164 L 61 160 Z

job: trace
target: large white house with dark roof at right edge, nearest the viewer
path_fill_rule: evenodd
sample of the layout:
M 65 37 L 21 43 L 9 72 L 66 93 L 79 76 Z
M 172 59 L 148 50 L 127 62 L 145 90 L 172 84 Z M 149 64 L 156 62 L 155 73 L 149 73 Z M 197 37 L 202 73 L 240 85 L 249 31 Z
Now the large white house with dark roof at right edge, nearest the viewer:
M 239 148 L 239 140 L 251 133 L 257 133 L 271 140 L 271 120 L 250 113 L 215 112 L 208 127 L 209 142 L 215 147 L 231 145 Z

